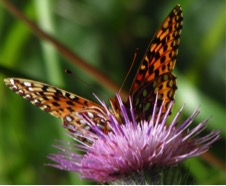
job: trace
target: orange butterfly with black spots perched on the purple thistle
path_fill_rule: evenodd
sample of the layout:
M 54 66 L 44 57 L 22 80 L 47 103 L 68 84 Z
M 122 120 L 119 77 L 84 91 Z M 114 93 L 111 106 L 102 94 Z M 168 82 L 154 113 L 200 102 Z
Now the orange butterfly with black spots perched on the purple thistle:
M 158 107 L 163 103 L 162 115 L 170 101 L 174 100 L 177 86 L 172 70 L 176 63 L 182 24 L 182 9 L 177 5 L 165 18 L 145 52 L 129 91 L 137 120 L 151 117 L 157 93 Z M 63 126 L 71 133 L 85 135 L 91 130 L 86 121 L 79 117 L 79 113 L 89 117 L 104 133 L 110 130 L 106 122 L 106 111 L 97 103 L 33 80 L 7 78 L 4 81 L 10 89 L 32 104 L 61 118 Z M 110 99 L 110 103 L 112 113 L 121 120 L 117 99 Z M 125 105 L 129 105 L 129 100 L 125 101 Z

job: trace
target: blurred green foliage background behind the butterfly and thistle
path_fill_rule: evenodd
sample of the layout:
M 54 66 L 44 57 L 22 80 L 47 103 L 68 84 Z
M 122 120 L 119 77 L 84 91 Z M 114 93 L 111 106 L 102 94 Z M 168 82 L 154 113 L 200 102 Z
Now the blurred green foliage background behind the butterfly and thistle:
M 0 1 L 1 2 L 1 1 Z M 206 132 L 221 129 L 221 140 L 210 149 L 215 159 L 185 162 L 197 184 L 226 184 L 225 62 L 226 6 L 215 0 L 12 0 L 27 17 L 121 85 L 139 48 L 139 61 L 163 19 L 178 3 L 184 14 L 179 56 L 175 114 L 183 103 L 183 117 L 201 105 L 198 122 L 212 116 Z M 46 82 L 95 100 L 95 90 L 64 73 L 68 68 L 112 97 L 92 74 L 60 55 L 37 38 L 0 3 L 0 184 L 87 184 L 75 173 L 45 166 L 56 150 L 55 139 L 69 140 L 61 121 L 22 99 L 3 83 L 6 77 Z M 128 90 L 136 69 L 125 85 Z M 96 92 L 101 99 L 107 99 Z M 182 118 L 183 118 L 182 117 Z

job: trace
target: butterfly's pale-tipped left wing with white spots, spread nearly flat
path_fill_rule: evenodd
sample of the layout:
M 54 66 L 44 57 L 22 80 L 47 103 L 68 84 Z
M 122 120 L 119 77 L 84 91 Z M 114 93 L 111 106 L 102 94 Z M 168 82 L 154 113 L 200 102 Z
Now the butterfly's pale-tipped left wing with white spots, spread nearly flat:
M 32 104 L 57 118 L 61 118 L 64 126 L 70 132 L 84 134 L 90 130 L 90 126 L 82 122 L 79 113 L 88 114 L 94 124 L 98 123 L 102 125 L 100 127 L 103 130 L 106 130 L 106 124 L 103 120 L 105 111 L 102 106 L 92 101 L 37 81 L 19 78 L 8 78 L 4 81 L 10 89 Z

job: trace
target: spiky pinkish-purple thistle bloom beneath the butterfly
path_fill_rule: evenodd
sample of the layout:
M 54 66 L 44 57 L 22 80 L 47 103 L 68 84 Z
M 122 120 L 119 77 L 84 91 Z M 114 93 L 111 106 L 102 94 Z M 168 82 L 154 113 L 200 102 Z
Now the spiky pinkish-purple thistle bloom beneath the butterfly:
M 198 109 L 181 125 L 178 125 L 177 120 L 183 110 L 182 107 L 172 123 L 167 125 L 166 120 L 173 102 L 170 103 L 164 118 L 160 120 L 162 107 L 156 113 L 156 101 L 152 118 L 149 121 L 137 123 L 134 119 L 132 104 L 130 104 L 130 113 L 128 113 L 119 95 L 117 95 L 117 100 L 125 123 L 119 123 L 105 103 L 101 102 L 109 117 L 107 124 L 112 132 L 103 133 L 98 127 L 93 126 L 89 118 L 81 115 L 81 118 L 86 120 L 91 127 L 93 126 L 92 129 L 95 131 L 92 135 L 85 136 L 92 143 L 83 143 L 73 137 L 80 144 L 63 143 L 55 146 L 60 152 L 49 156 L 51 160 L 57 162 L 51 166 L 79 172 L 82 178 L 93 181 L 112 182 L 141 172 L 145 168 L 154 169 L 177 165 L 184 159 L 206 152 L 210 145 L 220 138 L 218 130 L 203 137 L 197 136 L 205 129 L 208 120 L 201 122 L 191 130 L 188 129 L 199 114 Z M 79 151 L 84 153 L 78 153 Z

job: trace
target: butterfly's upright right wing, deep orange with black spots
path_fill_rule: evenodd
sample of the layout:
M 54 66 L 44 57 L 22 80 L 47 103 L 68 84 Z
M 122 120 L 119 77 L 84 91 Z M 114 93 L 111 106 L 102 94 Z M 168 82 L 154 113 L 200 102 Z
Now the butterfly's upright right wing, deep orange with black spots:
M 162 114 L 166 112 L 169 102 L 174 100 L 177 86 L 172 70 L 178 53 L 182 23 L 182 10 L 177 5 L 148 46 L 129 92 L 134 112 L 139 118 L 150 118 L 157 92 L 158 107 L 165 100 Z

